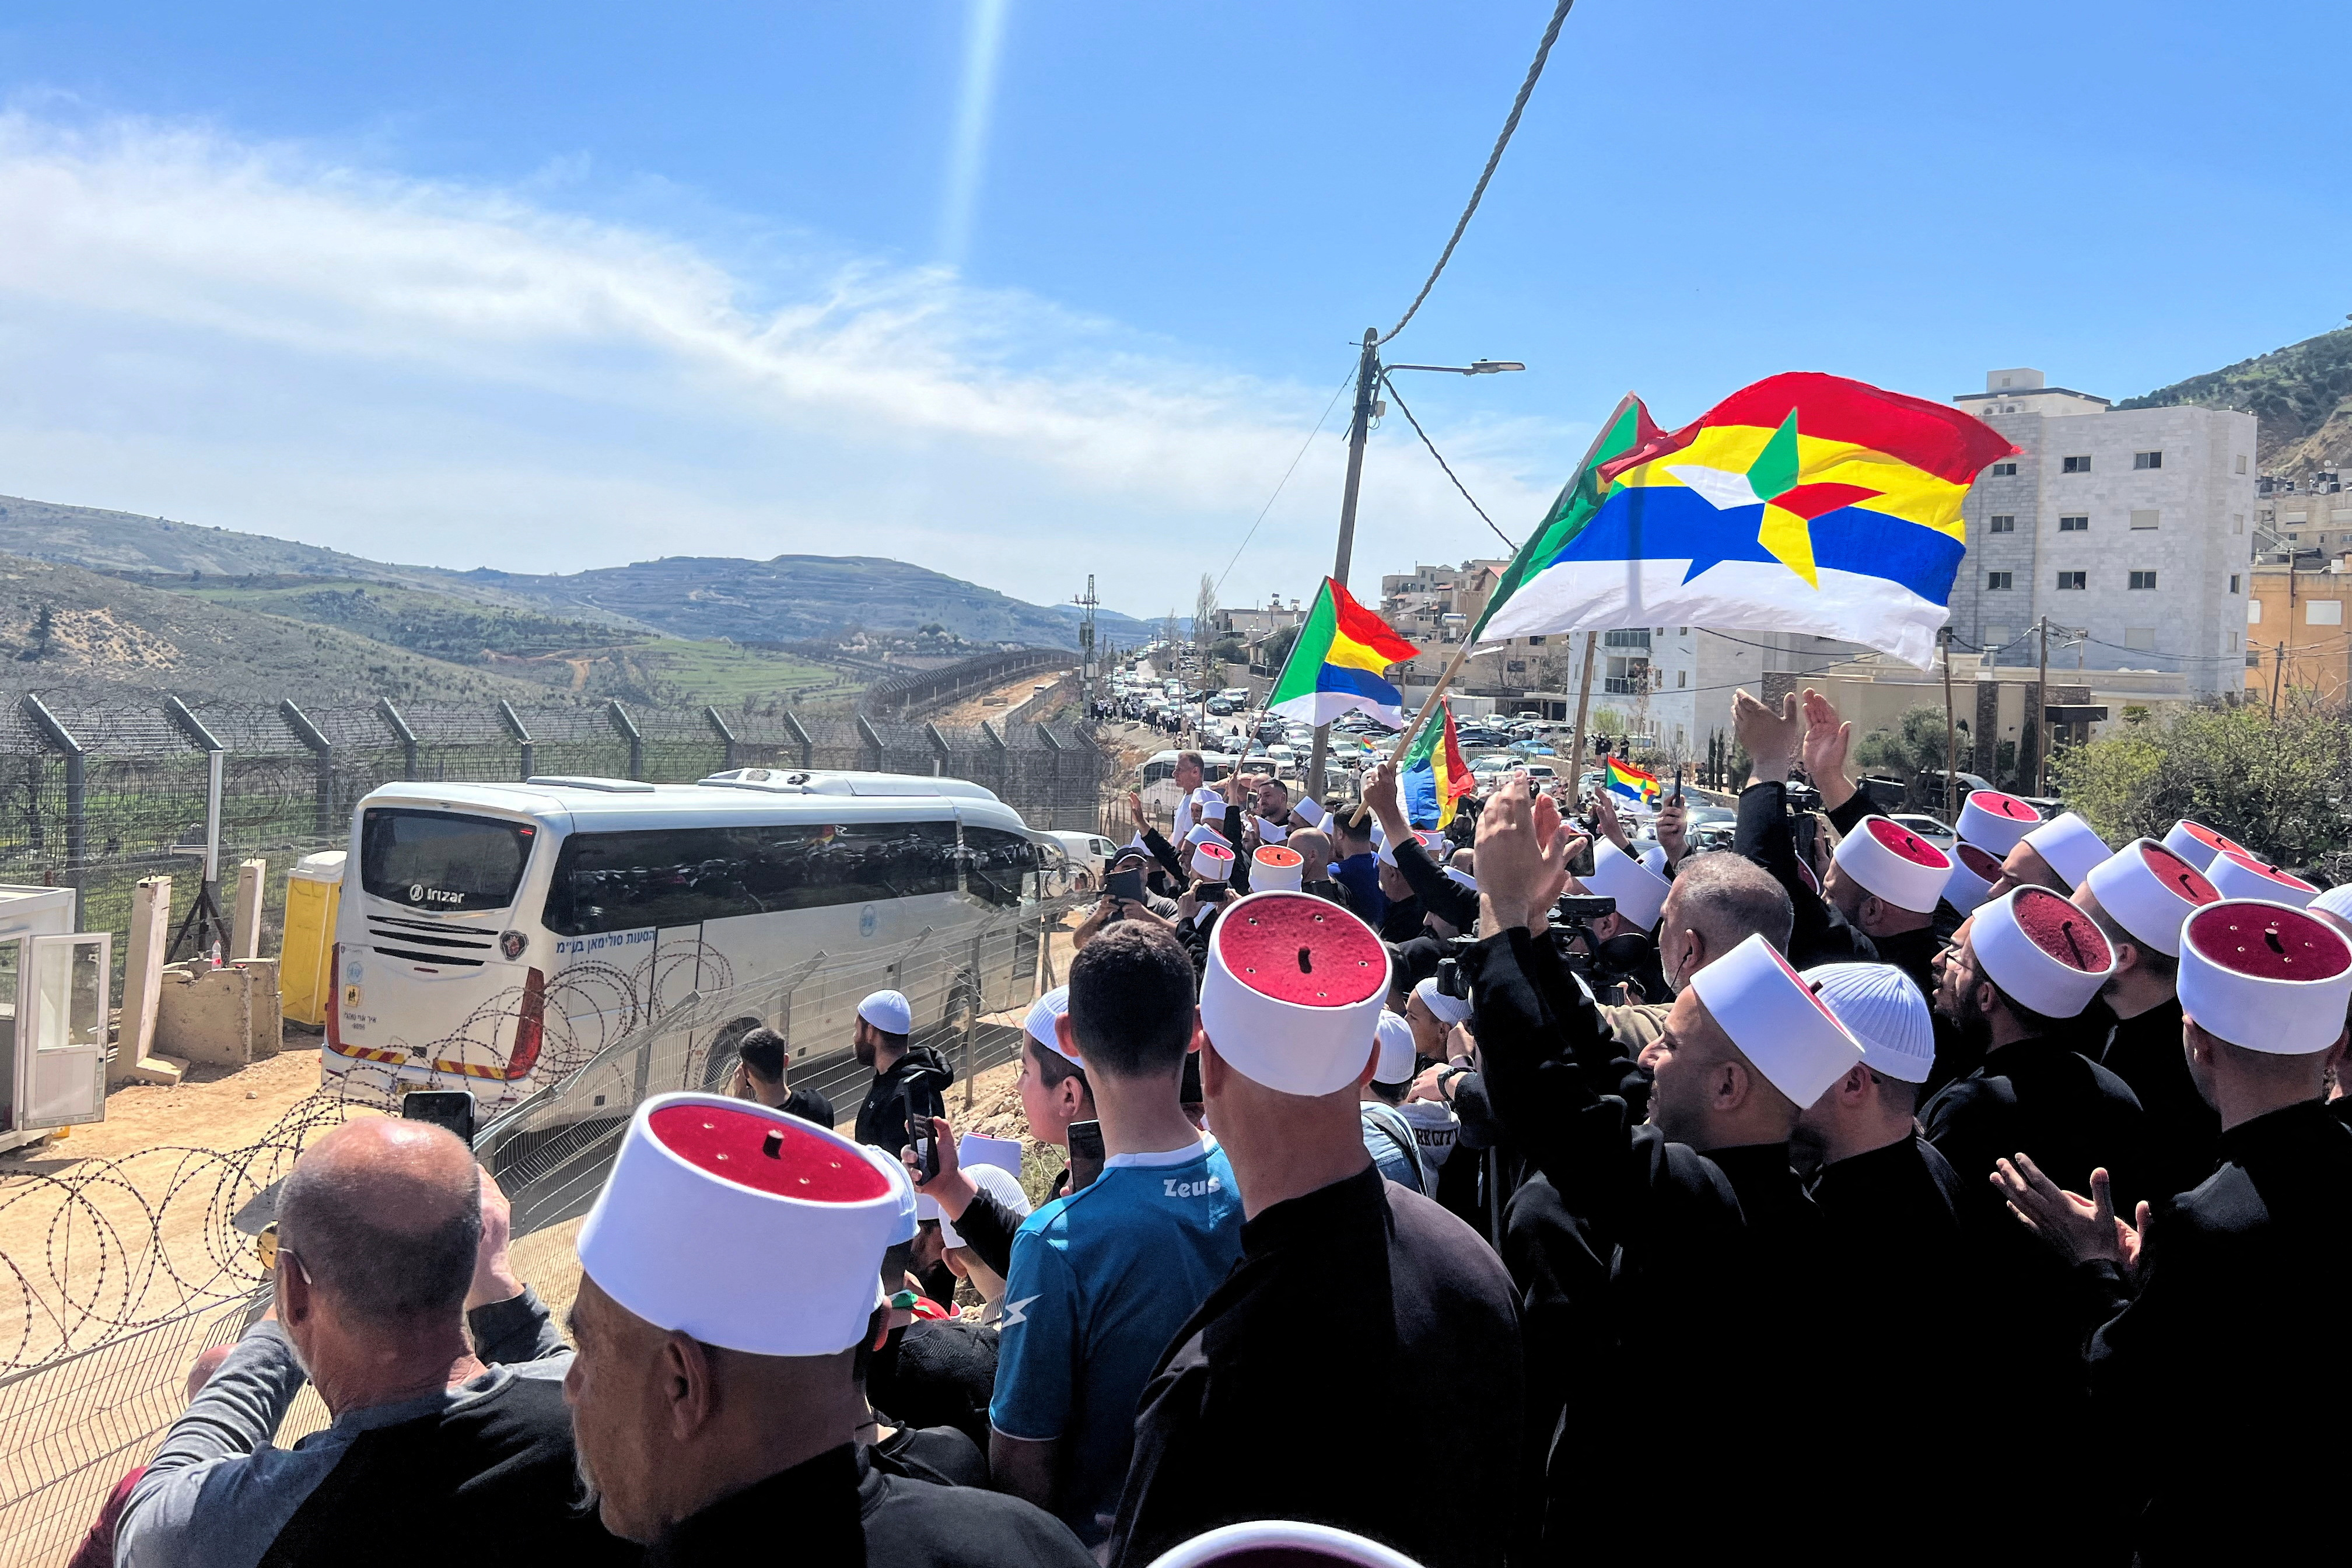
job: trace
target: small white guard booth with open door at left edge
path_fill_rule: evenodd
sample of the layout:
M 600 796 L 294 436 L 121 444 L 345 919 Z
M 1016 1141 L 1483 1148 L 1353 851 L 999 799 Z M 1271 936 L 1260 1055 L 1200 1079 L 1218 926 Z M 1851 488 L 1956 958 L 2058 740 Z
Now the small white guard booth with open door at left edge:
M 0 1147 L 106 1119 L 115 938 L 73 929 L 73 889 L 0 886 Z

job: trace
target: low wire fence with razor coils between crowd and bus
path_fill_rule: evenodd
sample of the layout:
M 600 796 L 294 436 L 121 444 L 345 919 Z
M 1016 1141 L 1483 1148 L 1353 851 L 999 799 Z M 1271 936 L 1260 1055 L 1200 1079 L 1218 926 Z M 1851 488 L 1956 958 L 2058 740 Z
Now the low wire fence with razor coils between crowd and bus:
M 1018 1053 L 1014 1018 L 1049 983 L 1049 933 L 1070 910 L 1070 898 L 1028 900 L 891 947 L 811 954 L 781 976 L 687 994 L 619 1037 L 475 1143 L 513 1201 L 517 1272 L 557 1305 L 572 1295 L 572 1220 L 595 1201 L 630 1112 L 647 1095 L 724 1088 L 753 1023 L 793 1041 L 795 1020 L 830 1018 L 830 999 L 887 985 L 931 1020 L 917 1041 L 969 1093 L 974 1074 Z M 990 1004 L 1011 1011 L 988 1016 Z M 851 1114 L 868 1070 L 837 1037 L 793 1044 L 793 1084 Z M 266 1194 L 306 1143 L 381 1110 L 381 1093 L 341 1079 L 242 1150 L 165 1147 L 0 1178 L 0 1568 L 64 1561 L 115 1481 L 146 1462 L 195 1356 L 235 1340 L 266 1305 L 252 1246 Z M 278 1441 L 325 1420 L 306 1389 Z

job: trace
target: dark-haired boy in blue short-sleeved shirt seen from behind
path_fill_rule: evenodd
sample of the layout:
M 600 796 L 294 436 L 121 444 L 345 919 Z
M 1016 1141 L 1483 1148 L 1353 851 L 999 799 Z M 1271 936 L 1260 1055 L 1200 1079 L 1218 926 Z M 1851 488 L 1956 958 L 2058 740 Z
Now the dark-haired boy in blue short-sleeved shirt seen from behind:
M 1004 1279 L 988 1462 L 1089 1547 L 1160 1352 L 1242 1253 L 1232 1166 L 1176 1098 L 1192 994 L 1192 959 L 1155 922 L 1108 926 L 1070 959 L 1056 1032 L 1094 1086 L 1103 1173 L 1021 1225 Z

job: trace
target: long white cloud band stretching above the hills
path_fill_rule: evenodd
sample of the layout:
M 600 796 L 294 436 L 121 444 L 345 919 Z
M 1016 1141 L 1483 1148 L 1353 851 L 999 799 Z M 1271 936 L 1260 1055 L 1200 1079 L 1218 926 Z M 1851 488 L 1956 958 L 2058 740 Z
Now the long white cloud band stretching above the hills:
M 896 555 L 1040 602 L 1096 571 L 1157 614 L 1225 567 L 1331 390 L 943 270 L 720 261 L 550 205 L 579 181 L 0 115 L 0 494 L 517 571 Z M 1439 437 L 1512 534 L 1566 451 Z M 1327 569 L 1341 458 L 1327 430 L 1228 599 Z M 1496 548 L 1395 421 L 1357 581 Z

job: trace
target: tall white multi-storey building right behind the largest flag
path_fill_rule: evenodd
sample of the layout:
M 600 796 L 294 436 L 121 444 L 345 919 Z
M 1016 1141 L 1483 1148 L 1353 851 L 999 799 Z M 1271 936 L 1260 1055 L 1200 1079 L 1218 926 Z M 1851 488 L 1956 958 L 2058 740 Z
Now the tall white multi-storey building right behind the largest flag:
M 1952 632 L 2002 665 L 2166 670 L 2194 693 L 2244 679 L 2253 416 L 2112 409 L 2034 369 L 1952 400 L 2023 451 L 1969 491 Z

